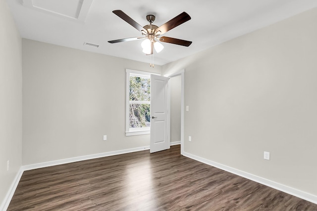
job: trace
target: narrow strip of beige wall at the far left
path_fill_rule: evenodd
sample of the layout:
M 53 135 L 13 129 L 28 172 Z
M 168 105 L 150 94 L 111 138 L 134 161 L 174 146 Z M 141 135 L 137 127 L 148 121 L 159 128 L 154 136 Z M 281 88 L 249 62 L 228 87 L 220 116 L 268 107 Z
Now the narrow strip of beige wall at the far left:
M 21 167 L 21 150 L 22 44 L 7 3 L 0 0 L 0 210 Z

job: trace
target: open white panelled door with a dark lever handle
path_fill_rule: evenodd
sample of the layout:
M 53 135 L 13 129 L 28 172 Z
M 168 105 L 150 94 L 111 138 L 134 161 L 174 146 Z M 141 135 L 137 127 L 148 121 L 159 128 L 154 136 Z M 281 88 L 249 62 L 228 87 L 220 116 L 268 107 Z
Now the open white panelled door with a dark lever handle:
M 151 75 L 150 152 L 169 149 L 168 78 Z

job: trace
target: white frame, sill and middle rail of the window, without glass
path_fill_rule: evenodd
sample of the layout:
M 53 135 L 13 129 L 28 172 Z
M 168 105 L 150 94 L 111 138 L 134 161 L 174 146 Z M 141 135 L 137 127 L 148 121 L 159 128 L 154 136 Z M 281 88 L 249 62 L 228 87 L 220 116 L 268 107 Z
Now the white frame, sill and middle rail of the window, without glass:
M 144 135 L 150 134 L 150 127 L 130 128 L 130 76 L 137 76 L 142 78 L 150 78 L 151 74 L 160 75 L 156 73 L 149 73 L 138 70 L 126 69 L 126 114 L 125 114 L 125 135 Z M 151 83 L 151 82 L 150 82 Z M 147 101 L 134 101 L 136 103 L 148 103 Z

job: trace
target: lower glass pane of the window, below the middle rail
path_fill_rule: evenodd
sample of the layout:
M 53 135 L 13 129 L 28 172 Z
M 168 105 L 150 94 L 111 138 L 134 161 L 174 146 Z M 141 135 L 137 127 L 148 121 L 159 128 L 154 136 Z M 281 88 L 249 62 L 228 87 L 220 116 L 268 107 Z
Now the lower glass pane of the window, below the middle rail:
M 150 127 L 150 104 L 130 103 L 130 127 Z

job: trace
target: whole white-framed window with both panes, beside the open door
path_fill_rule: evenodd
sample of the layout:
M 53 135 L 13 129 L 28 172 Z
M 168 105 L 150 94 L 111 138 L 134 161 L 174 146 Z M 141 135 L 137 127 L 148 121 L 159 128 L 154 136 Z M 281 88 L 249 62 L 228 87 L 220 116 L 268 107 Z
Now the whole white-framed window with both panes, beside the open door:
M 151 73 L 126 70 L 126 135 L 150 133 Z

